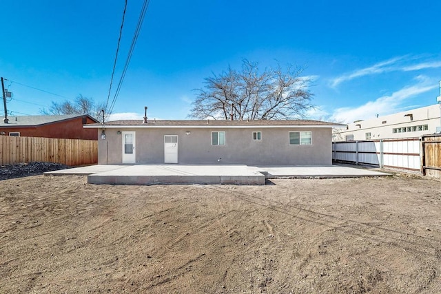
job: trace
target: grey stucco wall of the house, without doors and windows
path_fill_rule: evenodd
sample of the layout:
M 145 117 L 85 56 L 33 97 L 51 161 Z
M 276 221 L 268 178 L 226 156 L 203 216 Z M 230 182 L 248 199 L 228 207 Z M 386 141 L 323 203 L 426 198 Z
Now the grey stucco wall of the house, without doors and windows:
M 136 132 L 136 164 L 164 163 L 164 136 L 178 136 L 179 164 L 331 165 L 331 128 L 138 128 L 105 129 L 99 135 L 99 164 L 122 163 L 122 135 Z M 311 145 L 289 145 L 289 132 L 311 132 Z M 96 132 L 96 130 L 95 130 Z M 185 132 L 190 132 L 186 135 Z M 212 132 L 225 132 L 225 145 L 212 145 Z M 261 140 L 253 140 L 261 132 Z

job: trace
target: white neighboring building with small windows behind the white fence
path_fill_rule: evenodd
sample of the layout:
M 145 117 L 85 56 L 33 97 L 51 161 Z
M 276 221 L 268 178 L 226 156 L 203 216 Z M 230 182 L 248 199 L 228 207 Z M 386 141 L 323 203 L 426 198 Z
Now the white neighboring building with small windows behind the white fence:
M 350 123 L 347 129 L 334 129 L 334 142 L 416 138 L 434 134 L 440 127 L 440 106 L 411 109 L 398 114 Z M 405 132 L 403 132 L 405 131 Z

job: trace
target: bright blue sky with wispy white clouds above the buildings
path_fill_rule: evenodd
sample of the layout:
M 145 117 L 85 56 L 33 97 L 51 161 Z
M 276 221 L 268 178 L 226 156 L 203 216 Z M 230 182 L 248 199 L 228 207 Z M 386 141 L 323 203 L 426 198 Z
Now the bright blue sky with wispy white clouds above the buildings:
M 107 100 L 123 0 L 0 2 L 0 76 L 14 94 L 12 115 L 79 94 Z M 142 4 L 127 4 L 116 83 Z M 147 105 L 149 118 L 185 119 L 204 78 L 242 59 L 305 66 L 313 119 L 349 123 L 433 105 L 440 13 L 434 0 L 152 0 L 112 118 L 141 118 Z

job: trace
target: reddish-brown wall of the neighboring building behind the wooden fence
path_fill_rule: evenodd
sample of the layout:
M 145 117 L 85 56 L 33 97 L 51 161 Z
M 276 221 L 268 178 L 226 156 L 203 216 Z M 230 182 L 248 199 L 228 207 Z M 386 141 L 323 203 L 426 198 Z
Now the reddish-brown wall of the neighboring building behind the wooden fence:
M 85 123 L 96 123 L 94 120 L 85 117 Z M 0 132 L 5 132 L 6 136 L 10 132 L 19 132 L 21 137 L 44 137 L 44 138 L 63 138 L 63 139 L 83 139 L 96 140 L 96 129 L 84 129 L 83 118 L 72 118 L 35 127 L 0 127 Z

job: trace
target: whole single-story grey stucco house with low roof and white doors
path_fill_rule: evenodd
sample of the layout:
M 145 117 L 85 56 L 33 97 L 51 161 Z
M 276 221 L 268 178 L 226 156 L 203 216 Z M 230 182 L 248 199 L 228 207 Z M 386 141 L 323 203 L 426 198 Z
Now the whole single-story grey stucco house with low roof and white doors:
M 98 132 L 99 165 L 331 165 L 332 128 L 318 120 L 116 120 Z

